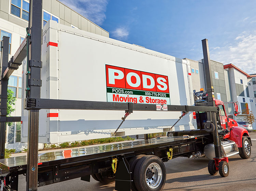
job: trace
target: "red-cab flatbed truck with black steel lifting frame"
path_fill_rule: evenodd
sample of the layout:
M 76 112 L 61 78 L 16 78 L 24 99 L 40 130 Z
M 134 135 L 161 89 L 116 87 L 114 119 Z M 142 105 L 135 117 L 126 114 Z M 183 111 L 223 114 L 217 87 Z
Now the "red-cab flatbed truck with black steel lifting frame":
M 8 62 L 9 39 L 3 37 L 2 95 L 7 94 L 8 78 L 11 73 L 21 65 L 25 56 L 29 58 L 24 98 L 24 109 L 29 111 L 29 128 L 27 157 L 0 159 L 1 191 L 17 191 L 20 174 L 26 175 L 28 191 L 78 177 L 84 181 L 90 181 L 92 177 L 103 184 L 115 181 L 115 189 L 118 191 L 160 191 L 166 181 L 163 162 L 172 158 L 179 156 L 200 158 L 205 155 L 211 159 L 208 164 L 209 173 L 216 175 L 219 172 L 225 177 L 229 174 L 229 156 L 239 154 L 242 158 L 250 157 L 252 143 L 249 133 L 238 127 L 235 120 L 228 118 L 225 103 L 213 97 L 207 39 L 202 40 L 207 92 L 194 93 L 195 106 L 161 104 L 160 107 L 165 107 L 165 110 L 160 108 L 159 111 L 157 104 L 42 99 L 40 98 L 41 12 L 42 1 L 30 1 L 28 35 L 10 62 Z M 1 137 L 5 122 L 20 120 L 20 118 L 6 117 L 5 102 L 5 97 L 1 96 Z M 236 108 L 234 115 L 237 115 L 237 103 L 234 103 L 234 107 Z M 177 122 L 189 112 L 190 114 L 195 112 L 197 129 L 174 131 L 174 137 L 113 143 L 38 155 L 40 109 L 119 110 L 125 111 L 123 122 L 133 111 L 180 111 L 182 115 Z M 118 129 L 113 136 L 117 131 Z M 1 141 L 1 153 L 4 151 L 3 145 Z

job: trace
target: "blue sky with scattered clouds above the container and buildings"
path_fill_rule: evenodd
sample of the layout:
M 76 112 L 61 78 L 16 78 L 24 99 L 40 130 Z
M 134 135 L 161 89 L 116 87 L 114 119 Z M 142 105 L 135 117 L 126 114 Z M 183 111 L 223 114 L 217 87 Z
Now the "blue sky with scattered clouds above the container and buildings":
M 256 1 L 61 0 L 115 38 L 179 58 L 210 58 L 256 73 Z

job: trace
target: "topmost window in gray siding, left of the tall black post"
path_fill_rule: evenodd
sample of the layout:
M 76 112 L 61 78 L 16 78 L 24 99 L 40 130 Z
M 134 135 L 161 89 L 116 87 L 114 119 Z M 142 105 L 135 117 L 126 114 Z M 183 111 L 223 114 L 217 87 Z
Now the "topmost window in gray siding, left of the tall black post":
M 28 21 L 29 2 L 25 0 L 11 0 L 11 14 Z

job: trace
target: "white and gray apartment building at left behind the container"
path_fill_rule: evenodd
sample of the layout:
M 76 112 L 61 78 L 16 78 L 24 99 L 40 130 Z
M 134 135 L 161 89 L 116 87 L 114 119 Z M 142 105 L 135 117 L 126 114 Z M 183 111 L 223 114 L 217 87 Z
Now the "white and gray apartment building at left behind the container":
M 28 0 L 0 0 L 0 39 L 2 40 L 3 36 L 10 37 L 9 59 L 15 54 L 20 43 L 26 37 L 28 15 Z M 58 0 L 43 0 L 42 27 L 48 20 L 109 37 L 109 32 Z M 14 106 L 16 110 L 12 116 L 21 116 L 22 67 L 10 76 L 9 89 L 14 92 L 14 97 L 17 99 Z M 6 127 L 6 148 L 14 148 L 18 151 L 26 147 L 26 143 L 20 142 L 20 126 L 20 122 L 15 122 Z

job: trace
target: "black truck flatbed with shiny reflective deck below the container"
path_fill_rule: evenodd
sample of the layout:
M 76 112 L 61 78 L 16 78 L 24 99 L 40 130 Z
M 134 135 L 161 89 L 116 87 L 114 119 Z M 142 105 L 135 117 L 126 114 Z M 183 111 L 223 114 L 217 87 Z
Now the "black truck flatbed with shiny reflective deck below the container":
M 172 148 L 172 158 L 188 156 L 191 153 L 202 150 L 201 147 L 209 139 L 208 136 L 210 137 L 210 134 L 203 130 L 175 133 L 181 136 L 41 153 L 38 155 L 38 186 L 78 177 L 81 177 L 82 180 L 90 181 L 91 174 L 112 171 L 113 158 L 116 158 L 119 163 L 123 158 L 129 161 L 133 156 L 137 155 L 155 155 L 163 161 L 168 161 L 167 152 L 169 148 Z M 182 136 L 182 134 L 188 133 L 190 137 L 184 138 Z M 191 134 L 194 135 L 191 136 Z M 0 167 L 0 176 L 4 179 L 5 186 L 10 185 L 10 190 L 18 190 L 18 175 L 26 174 L 27 156 L 0 159 Z M 130 173 L 129 166 L 127 166 L 126 171 L 128 171 L 128 174 Z

